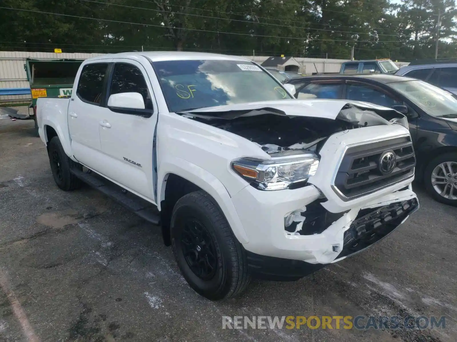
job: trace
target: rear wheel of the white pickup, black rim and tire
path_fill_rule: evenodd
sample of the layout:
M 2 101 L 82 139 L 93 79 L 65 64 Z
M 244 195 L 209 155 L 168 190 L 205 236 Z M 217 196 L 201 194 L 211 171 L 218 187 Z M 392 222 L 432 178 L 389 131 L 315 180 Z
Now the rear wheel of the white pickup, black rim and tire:
M 71 191 L 81 187 L 81 181 L 73 173 L 72 168 L 82 170 L 82 166 L 72 161 L 64 151 L 58 137 L 53 137 L 48 143 L 48 156 L 54 181 L 64 191 Z

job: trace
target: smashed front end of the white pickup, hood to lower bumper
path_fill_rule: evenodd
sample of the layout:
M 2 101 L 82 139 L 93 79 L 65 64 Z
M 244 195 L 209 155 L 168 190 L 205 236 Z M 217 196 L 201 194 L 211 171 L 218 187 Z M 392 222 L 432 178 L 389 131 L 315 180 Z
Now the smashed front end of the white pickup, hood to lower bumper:
M 231 200 L 249 240 L 251 274 L 298 279 L 376 243 L 417 210 L 403 114 L 341 101 L 269 105 L 183 114 L 265 153 L 231 161 L 250 185 Z

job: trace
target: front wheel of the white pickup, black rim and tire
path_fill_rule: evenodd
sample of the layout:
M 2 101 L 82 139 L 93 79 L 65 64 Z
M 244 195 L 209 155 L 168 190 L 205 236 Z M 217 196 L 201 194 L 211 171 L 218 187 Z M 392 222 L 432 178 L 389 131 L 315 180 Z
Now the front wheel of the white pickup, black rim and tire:
M 181 273 L 198 294 L 218 301 L 238 295 L 249 284 L 245 251 L 206 192 L 191 192 L 176 202 L 170 234 Z

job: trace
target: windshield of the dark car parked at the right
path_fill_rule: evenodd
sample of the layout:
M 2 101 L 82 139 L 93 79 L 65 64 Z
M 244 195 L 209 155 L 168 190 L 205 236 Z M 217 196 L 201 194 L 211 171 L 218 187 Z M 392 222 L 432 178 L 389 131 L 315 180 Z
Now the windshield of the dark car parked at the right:
M 457 99 L 447 90 L 419 80 L 396 82 L 389 85 L 427 114 L 438 117 L 457 114 Z

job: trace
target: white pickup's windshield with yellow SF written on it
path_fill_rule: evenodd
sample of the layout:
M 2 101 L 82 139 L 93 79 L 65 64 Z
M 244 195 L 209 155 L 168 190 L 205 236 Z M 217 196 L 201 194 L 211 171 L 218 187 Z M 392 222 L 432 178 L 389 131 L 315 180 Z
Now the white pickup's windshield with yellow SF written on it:
M 290 99 L 252 62 L 180 60 L 152 62 L 170 112 L 255 101 Z

